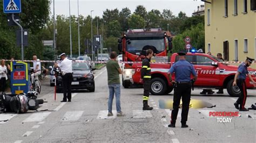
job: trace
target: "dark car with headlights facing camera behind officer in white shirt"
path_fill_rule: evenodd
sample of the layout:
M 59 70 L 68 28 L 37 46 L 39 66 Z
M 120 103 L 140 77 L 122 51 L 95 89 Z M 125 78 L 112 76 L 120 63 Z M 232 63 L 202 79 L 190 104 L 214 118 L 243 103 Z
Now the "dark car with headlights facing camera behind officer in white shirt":
M 91 68 L 86 62 L 76 60 L 72 62 L 73 80 L 71 83 L 71 90 L 84 90 L 90 92 L 95 91 L 95 80 L 92 73 L 96 68 Z M 57 76 L 56 80 L 57 92 L 62 92 L 62 77 Z

